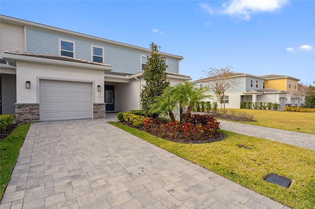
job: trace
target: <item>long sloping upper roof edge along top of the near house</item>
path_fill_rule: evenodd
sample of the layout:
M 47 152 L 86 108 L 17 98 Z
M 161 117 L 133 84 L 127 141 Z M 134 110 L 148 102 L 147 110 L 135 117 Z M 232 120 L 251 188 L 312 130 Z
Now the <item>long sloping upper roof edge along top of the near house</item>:
M 108 39 L 104 39 L 104 38 L 99 38 L 96 36 L 87 35 L 87 34 L 79 33 L 79 32 L 74 32 L 71 30 L 66 30 L 66 29 L 62 29 L 62 28 L 58 28 L 58 27 L 54 27 L 54 26 L 47 26 L 47 25 L 43 25 L 43 24 L 39 24 L 39 23 L 34 23 L 34 22 L 22 20 L 22 19 L 17 19 L 17 18 L 5 16 L 5 15 L 0 15 L 0 22 L 13 24 L 16 26 L 28 26 L 28 27 L 33 27 L 33 28 L 37 28 L 37 29 L 48 30 L 48 31 L 52 31 L 52 32 L 58 32 L 58 33 L 62 33 L 65 35 L 71 35 L 71 36 L 76 36 L 79 38 L 90 39 L 90 40 L 97 41 L 97 42 L 103 42 L 103 43 L 106 43 L 109 45 L 114 45 L 114 46 L 133 49 L 133 50 L 140 50 L 140 51 L 146 52 L 146 53 L 151 53 L 150 49 L 137 47 L 137 46 L 133 46 L 130 44 L 125 44 L 125 43 L 112 41 L 112 40 L 108 40 Z M 170 53 L 165 53 L 165 52 L 159 52 L 159 54 L 161 54 L 163 56 L 173 57 L 173 58 L 176 58 L 179 60 L 184 59 L 183 56 L 179 56 L 179 55 L 175 55 L 175 54 L 170 54 Z

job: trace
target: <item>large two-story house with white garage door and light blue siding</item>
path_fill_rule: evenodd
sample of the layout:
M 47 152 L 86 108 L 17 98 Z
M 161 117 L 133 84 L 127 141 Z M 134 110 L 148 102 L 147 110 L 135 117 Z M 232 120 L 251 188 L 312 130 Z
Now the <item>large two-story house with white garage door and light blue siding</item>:
M 151 50 L 3 15 L 0 23 L 1 114 L 24 123 L 140 109 Z M 160 54 L 171 85 L 191 79 L 179 74 L 182 56 Z

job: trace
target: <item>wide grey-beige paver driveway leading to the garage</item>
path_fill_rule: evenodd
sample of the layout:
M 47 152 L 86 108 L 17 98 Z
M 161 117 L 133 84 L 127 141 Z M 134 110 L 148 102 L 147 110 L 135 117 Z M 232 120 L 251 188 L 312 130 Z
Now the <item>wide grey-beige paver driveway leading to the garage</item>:
M 287 208 L 104 120 L 32 124 L 5 208 Z

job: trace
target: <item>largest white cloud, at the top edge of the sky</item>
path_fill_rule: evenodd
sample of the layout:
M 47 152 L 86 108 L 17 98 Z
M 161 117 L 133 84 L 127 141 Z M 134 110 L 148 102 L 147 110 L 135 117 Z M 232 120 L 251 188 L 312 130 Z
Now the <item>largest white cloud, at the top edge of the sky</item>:
M 251 15 L 257 12 L 274 12 L 280 9 L 288 0 L 229 0 L 222 3 L 219 13 L 236 16 L 244 20 L 250 20 Z M 211 8 L 207 3 L 199 4 L 202 9 L 213 14 L 216 8 Z

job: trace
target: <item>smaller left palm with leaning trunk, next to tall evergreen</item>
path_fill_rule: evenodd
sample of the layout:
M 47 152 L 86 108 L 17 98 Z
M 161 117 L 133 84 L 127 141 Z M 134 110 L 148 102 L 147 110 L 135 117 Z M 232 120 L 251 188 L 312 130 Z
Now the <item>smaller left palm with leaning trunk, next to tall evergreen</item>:
M 155 103 L 150 105 L 149 113 L 168 114 L 173 122 L 176 122 L 173 111 L 176 110 L 177 103 L 172 99 L 174 87 L 167 87 L 161 96 L 156 97 Z

